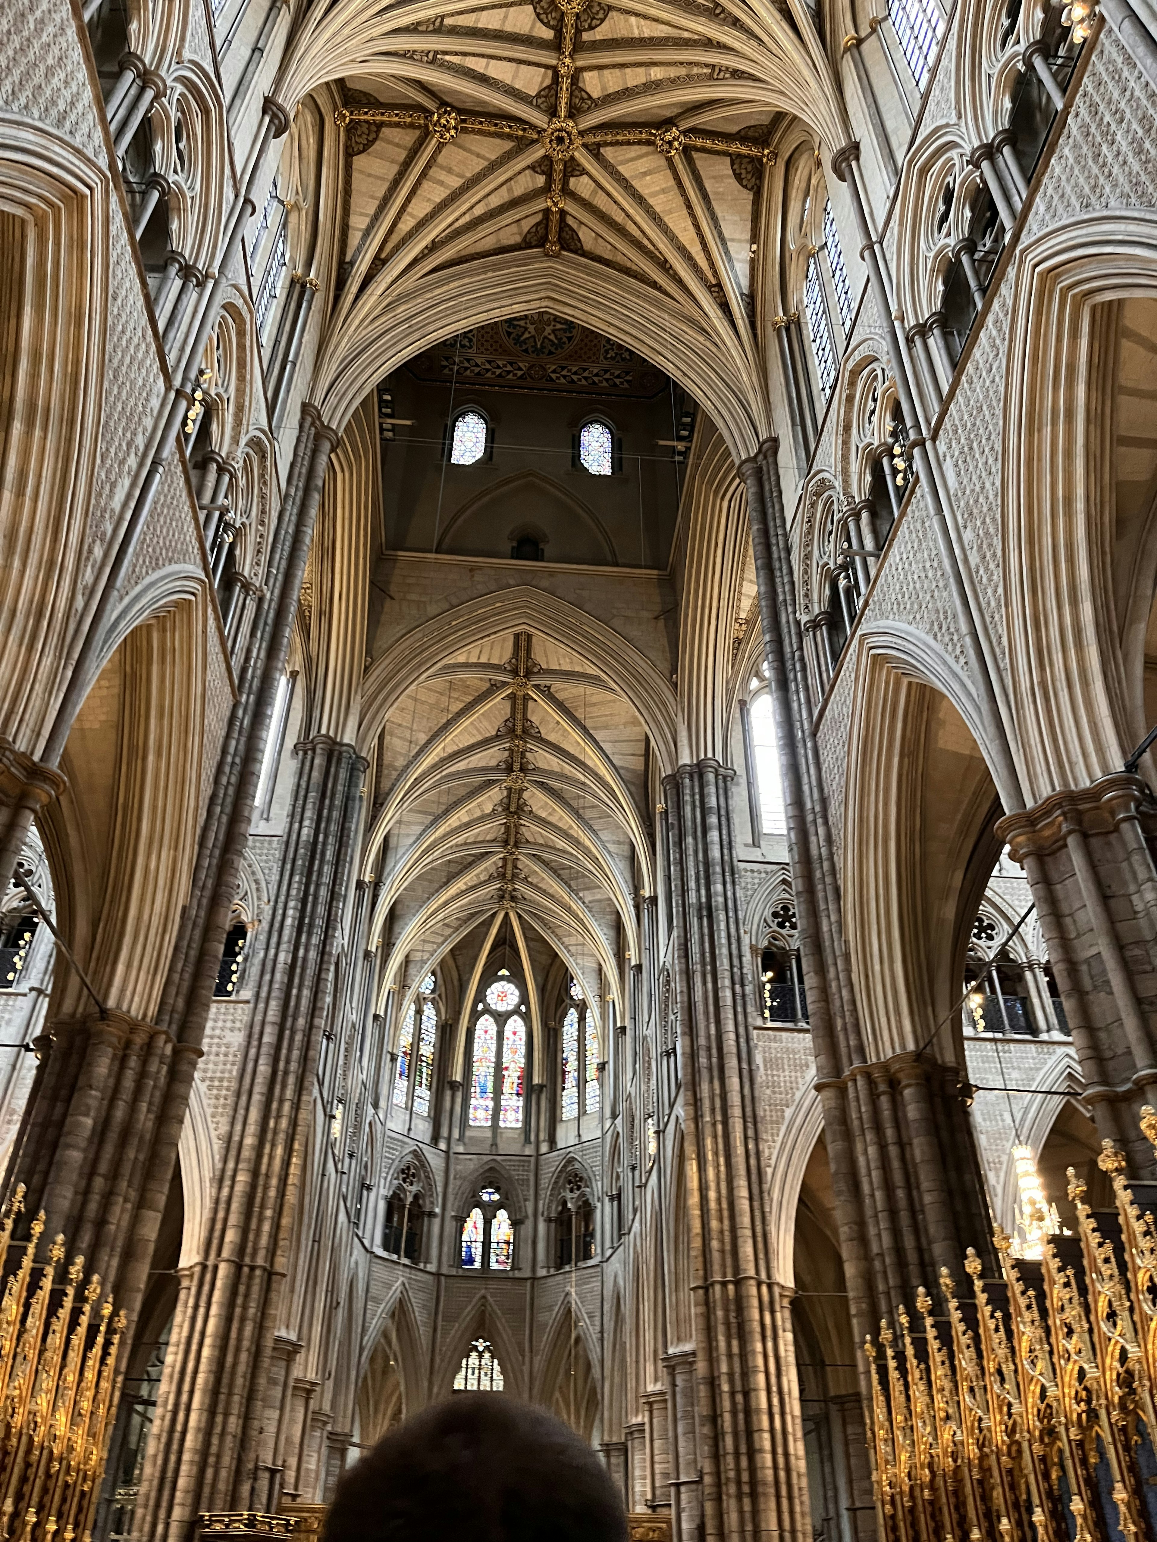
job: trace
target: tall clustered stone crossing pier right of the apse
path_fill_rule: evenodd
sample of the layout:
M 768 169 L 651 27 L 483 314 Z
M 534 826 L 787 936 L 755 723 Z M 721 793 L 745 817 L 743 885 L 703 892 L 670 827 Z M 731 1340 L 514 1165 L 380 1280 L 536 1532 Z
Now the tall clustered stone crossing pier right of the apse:
M 799 1536 L 807 1477 L 794 1360 L 778 1342 L 771 1295 L 733 776 L 716 760 L 700 760 L 663 783 L 683 1036 L 703 1536 Z

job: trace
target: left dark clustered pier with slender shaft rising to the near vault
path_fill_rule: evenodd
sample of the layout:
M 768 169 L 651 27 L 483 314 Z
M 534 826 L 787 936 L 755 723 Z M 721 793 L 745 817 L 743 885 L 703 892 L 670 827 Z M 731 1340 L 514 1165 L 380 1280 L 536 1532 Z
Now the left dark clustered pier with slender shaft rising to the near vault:
M 156 1022 L 106 1004 L 51 1024 L 9 1160 L 6 1187 L 28 1189 L 25 1224 L 69 1246 L 130 1321 L 140 1305 L 177 1158 L 180 1127 L 253 817 L 278 682 L 336 436 L 305 409 L 270 552 L 265 598 L 241 671 L 202 828 L 182 941 Z

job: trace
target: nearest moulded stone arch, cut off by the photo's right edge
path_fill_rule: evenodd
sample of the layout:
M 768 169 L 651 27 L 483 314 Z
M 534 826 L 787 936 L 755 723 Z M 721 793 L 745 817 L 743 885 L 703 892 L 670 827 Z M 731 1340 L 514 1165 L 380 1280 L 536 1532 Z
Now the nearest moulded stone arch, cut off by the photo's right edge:
M 1017 251 L 1004 369 L 1001 550 L 1024 796 L 1120 765 L 1142 723 L 1117 628 L 1114 301 L 1157 298 L 1157 216 L 1097 210 Z M 1109 376 L 1106 378 L 1106 370 Z M 1108 398 L 1108 399 L 1106 399 Z M 1100 402 L 1100 413 L 1089 402 Z M 1137 567 L 1151 571 L 1157 526 Z M 1088 595 L 1074 606 L 1072 595 Z

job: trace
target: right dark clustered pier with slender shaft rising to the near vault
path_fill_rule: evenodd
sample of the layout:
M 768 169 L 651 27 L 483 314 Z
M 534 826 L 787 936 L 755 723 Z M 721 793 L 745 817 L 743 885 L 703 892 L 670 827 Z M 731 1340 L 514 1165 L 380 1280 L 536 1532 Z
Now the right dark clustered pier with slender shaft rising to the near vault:
M 956 1066 L 912 1052 L 873 1062 L 861 1032 L 844 938 L 822 771 L 811 728 L 778 443 L 745 461 L 759 612 L 784 779 L 816 1086 L 855 1337 L 915 1298 L 989 1220 Z M 862 1366 L 861 1366 L 862 1377 Z

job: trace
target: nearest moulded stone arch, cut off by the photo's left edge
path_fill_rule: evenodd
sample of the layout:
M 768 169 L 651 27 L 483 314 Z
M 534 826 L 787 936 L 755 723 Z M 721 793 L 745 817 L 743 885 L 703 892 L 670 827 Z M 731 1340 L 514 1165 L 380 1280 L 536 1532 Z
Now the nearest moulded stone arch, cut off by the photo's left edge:
M 108 322 L 110 180 L 76 145 L 0 114 L 0 732 L 35 754 L 85 589 Z

